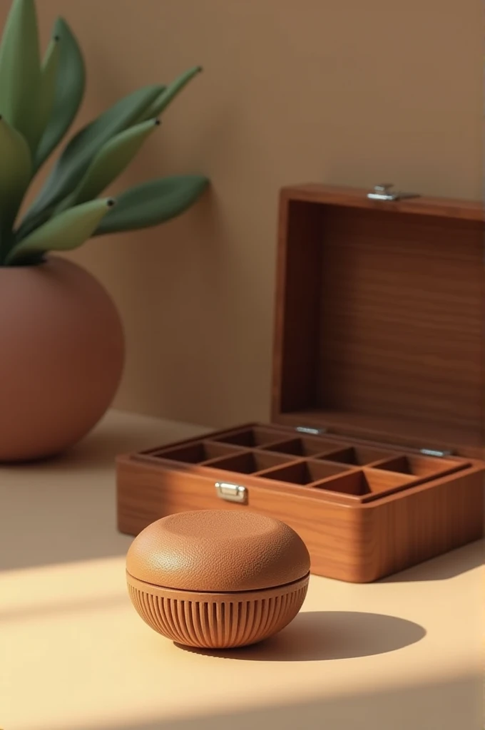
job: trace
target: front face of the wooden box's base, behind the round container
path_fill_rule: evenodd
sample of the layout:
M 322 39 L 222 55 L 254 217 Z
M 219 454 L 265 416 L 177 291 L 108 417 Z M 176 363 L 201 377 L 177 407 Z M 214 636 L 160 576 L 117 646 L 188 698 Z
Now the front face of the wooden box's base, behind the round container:
M 252 510 L 286 522 L 302 537 L 314 575 L 359 582 L 362 510 L 248 485 L 248 504 L 220 499 L 214 479 L 118 459 L 118 529 L 137 535 L 154 520 L 186 510 Z

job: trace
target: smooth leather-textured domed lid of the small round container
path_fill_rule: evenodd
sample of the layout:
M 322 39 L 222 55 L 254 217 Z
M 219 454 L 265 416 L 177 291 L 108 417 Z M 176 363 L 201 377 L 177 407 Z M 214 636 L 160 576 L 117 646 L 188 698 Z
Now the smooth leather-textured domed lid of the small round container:
M 255 512 L 197 510 L 151 523 L 134 539 L 127 572 L 185 591 L 256 591 L 291 583 L 310 570 L 291 527 Z

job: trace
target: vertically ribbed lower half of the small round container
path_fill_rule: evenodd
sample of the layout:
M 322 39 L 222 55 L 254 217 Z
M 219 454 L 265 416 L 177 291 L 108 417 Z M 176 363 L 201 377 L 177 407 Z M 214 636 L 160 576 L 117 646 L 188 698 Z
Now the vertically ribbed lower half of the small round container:
M 172 591 L 128 577 L 131 602 L 148 626 L 186 646 L 208 649 L 255 644 L 293 621 L 308 590 L 296 583 L 253 593 Z

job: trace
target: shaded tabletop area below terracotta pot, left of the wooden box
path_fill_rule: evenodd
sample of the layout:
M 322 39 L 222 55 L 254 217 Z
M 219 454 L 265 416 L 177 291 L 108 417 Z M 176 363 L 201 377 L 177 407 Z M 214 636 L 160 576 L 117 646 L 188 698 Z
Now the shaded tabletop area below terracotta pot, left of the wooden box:
M 207 430 L 190 428 L 194 436 Z M 132 537 L 117 529 L 115 457 L 181 439 L 187 432 L 185 424 L 165 426 L 111 412 L 62 456 L 1 465 L 0 570 L 126 555 Z

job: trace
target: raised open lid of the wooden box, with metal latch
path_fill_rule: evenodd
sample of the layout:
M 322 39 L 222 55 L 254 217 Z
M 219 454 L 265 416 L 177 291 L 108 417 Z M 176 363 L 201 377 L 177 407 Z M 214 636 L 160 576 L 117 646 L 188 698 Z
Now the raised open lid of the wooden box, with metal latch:
M 485 458 L 483 205 L 376 198 L 280 192 L 272 420 Z

